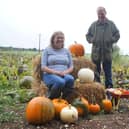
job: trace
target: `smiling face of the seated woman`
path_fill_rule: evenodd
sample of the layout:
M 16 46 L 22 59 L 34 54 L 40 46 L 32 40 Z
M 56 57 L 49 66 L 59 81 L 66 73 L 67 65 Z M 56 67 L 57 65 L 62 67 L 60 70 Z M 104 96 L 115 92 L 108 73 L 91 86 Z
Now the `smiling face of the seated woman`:
M 63 34 L 57 34 L 53 38 L 53 47 L 55 49 L 60 49 L 64 47 L 64 35 Z

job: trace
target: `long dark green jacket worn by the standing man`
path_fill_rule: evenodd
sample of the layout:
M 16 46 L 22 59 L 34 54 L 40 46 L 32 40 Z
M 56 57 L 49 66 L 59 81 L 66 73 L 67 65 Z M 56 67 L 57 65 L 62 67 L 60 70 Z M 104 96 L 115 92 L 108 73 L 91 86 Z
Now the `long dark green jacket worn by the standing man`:
M 112 47 L 120 38 L 116 25 L 106 19 L 105 23 L 93 22 L 86 34 L 86 39 L 92 43 L 91 57 L 93 61 L 111 61 Z

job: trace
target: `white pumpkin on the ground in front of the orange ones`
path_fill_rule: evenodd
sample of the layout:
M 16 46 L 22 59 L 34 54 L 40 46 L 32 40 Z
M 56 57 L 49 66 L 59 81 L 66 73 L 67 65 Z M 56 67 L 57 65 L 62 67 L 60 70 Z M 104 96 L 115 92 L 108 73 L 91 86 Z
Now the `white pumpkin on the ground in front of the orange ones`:
M 60 119 L 65 123 L 74 123 L 78 120 L 78 111 L 72 106 L 68 105 L 64 107 L 60 112 Z

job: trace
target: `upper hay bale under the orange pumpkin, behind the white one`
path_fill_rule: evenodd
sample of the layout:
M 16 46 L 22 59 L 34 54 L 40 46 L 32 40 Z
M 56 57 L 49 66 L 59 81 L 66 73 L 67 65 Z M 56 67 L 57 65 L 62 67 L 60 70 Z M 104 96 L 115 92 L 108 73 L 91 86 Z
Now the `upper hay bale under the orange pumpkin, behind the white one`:
M 95 71 L 95 64 L 87 59 L 86 57 L 73 57 L 73 65 L 74 65 L 74 69 L 72 72 L 72 75 L 74 76 L 74 78 L 77 78 L 77 73 L 81 68 L 90 68 L 93 71 Z

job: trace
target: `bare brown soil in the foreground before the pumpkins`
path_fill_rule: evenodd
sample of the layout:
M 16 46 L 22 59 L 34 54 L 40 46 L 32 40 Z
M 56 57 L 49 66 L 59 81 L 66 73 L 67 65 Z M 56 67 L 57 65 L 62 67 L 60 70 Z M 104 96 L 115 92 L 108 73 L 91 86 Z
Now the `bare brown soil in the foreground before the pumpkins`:
M 122 104 L 119 110 L 113 110 L 110 114 L 100 113 L 89 115 L 87 118 L 79 117 L 74 124 L 54 119 L 43 125 L 31 125 L 27 123 L 25 112 L 21 110 L 17 112 L 19 118 L 21 117 L 20 120 L 0 123 L 0 129 L 129 129 L 129 100 L 125 100 Z

